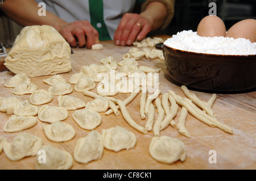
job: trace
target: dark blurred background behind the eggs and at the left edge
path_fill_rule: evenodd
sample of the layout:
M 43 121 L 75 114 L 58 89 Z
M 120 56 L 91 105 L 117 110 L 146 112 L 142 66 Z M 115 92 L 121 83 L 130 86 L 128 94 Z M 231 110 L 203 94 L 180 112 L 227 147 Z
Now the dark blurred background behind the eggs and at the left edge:
M 256 0 L 176 0 L 175 15 L 170 25 L 148 36 L 174 35 L 183 30 L 196 31 L 200 20 L 208 15 L 210 2 L 216 3 L 217 16 L 224 21 L 227 30 L 240 20 L 256 19 Z M 21 29 L 21 26 L 0 12 L 0 41 L 3 45 L 12 45 Z

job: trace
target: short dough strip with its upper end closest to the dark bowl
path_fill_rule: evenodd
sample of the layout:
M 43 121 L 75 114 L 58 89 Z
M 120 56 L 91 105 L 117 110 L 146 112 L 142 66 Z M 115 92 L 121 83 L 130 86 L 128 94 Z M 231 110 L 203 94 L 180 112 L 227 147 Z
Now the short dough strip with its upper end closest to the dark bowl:
M 195 103 L 197 106 L 199 106 L 200 108 L 202 108 L 206 113 L 208 113 L 208 115 L 214 117 L 214 113 L 212 108 L 209 106 L 208 103 L 203 102 L 202 100 L 200 100 L 194 93 L 192 93 L 191 91 L 188 90 L 188 88 L 186 86 L 181 86 L 180 87 L 181 90 L 184 92 L 184 94 L 192 100 L 193 103 Z

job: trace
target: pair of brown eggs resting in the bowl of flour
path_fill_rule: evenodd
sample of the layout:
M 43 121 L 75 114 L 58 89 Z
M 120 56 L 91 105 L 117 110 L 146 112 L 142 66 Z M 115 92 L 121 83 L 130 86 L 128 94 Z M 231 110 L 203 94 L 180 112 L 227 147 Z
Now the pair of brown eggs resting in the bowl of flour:
M 205 37 L 233 37 L 234 39 L 245 38 L 249 39 L 251 43 L 254 43 L 256 42 L 256 20 L 241 20 L 226 32 L 225 24 L 221 18 L 215 15 L 208 15 L 197 26 L 197 35 Z

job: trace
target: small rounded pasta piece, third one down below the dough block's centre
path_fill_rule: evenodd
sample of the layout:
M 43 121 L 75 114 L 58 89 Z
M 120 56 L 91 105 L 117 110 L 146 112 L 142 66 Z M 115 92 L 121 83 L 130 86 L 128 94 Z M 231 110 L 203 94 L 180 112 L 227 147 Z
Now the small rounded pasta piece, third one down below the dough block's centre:
M 53 96 L 46 90 L 40 89 L 32 92 L 30 102 L 34 105 L 42 105 L 51 102 Z

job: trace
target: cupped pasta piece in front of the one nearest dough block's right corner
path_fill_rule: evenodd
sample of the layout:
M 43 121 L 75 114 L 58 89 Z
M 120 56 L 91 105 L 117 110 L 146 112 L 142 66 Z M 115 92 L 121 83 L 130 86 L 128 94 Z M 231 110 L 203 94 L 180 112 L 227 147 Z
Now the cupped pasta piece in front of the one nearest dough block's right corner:
M 69 83 L 57 82 L 55 85 L 49 87 L 48 91 L 52 95 L 65 95 L 70 94 L 73 88 Z

